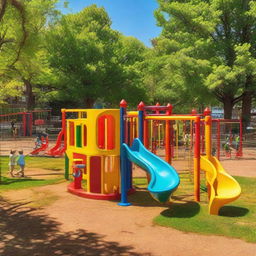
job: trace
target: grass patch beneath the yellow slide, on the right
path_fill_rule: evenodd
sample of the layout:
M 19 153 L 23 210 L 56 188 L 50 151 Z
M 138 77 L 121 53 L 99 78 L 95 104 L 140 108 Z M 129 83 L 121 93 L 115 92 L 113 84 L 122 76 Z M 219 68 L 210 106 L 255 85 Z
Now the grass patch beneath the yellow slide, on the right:
M 208 214 L 207 193 L 201 190 L 201 202 L 193 200 L 193 185 L 185 174 L 181 184 L 172 196 L 169 207 L 153 222 L 185 232 L 223 235 L 256 243 L 256 178 L 235 177 L 242 187 L 241 197 L 221 208 L 220 216 Z M 146 186 L 145 178 L 135 178 L 138 187 Z M 136 195 L 136 194 L 135 194 Z M 135 196 L 134 195 L 134 196 Z M 143 197 L 146 197 L 144 194 Z M 130 199 L 133 201 L 132 196 Z M 148 197 L 145 205 L 153 206 Z

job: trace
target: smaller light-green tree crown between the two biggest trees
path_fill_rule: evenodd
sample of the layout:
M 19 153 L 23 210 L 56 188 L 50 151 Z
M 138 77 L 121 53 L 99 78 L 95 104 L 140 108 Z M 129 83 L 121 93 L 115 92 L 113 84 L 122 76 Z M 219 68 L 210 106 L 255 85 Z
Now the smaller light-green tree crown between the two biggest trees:
M 213 97 L 202 86 L 203 74 L 209 70 L 208 62 L 190 58 L 182 52 L 163 52 L 162 43 L 158 41 L 141 65 L 150 102 L 171 102 L 176 111 L 190 111 L 206 101 L 212 102 Z

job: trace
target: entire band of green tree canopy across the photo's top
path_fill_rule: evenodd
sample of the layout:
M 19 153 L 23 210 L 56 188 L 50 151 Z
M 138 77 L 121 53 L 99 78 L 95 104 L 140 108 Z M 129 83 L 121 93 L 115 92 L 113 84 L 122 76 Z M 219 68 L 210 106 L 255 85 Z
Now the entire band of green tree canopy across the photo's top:
M 0 104 L 25 93 L 27 108 L 171 102 L 188 111 L 256 98 L 256 3 L 158 0 L 152 48 L 113 30 L 104 8 L 72 14 L 58 0 L 0 1 Z M 63 3 L 63 0 L 62 0 Z M 66 4 L 66 1 L 64 2 Z

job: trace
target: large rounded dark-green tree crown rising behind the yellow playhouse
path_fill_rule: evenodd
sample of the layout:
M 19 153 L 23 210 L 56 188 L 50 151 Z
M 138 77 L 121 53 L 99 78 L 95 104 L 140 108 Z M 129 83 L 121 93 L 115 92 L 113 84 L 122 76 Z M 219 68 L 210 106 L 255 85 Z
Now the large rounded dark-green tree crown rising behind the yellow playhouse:
M 92 5 L 63 16 L 50 27 L 47 41 L 60 99 L 92 107 L 99 98 L 119 103 L 126 93 L 134 101 L 143 95 L 135 65 L 145 47 L 112 30 L 104 8 Z

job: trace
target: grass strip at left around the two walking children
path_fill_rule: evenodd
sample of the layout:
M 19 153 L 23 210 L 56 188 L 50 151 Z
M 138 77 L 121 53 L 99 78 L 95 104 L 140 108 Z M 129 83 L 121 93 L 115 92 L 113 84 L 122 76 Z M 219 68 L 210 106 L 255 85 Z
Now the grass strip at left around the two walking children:
M 47 179 L 33 179 L 30 177 L 25 178 L 12 178 L 8 175 L 8 157 L 0 157 L 1 166 L 1 183 L 0 191 L 15 190 L 31 188 L 36 186 L 44 186 L 55 184 L 64 181 L 63 169 L 64 169 L 64 159 L 63 158 L 46 158 L 46 157 L 26 157 L 26 168 L 38 168 L 51 171 L 59 171 L 58 177 Z M 25 169 L 26 174 L 26 169 Z

